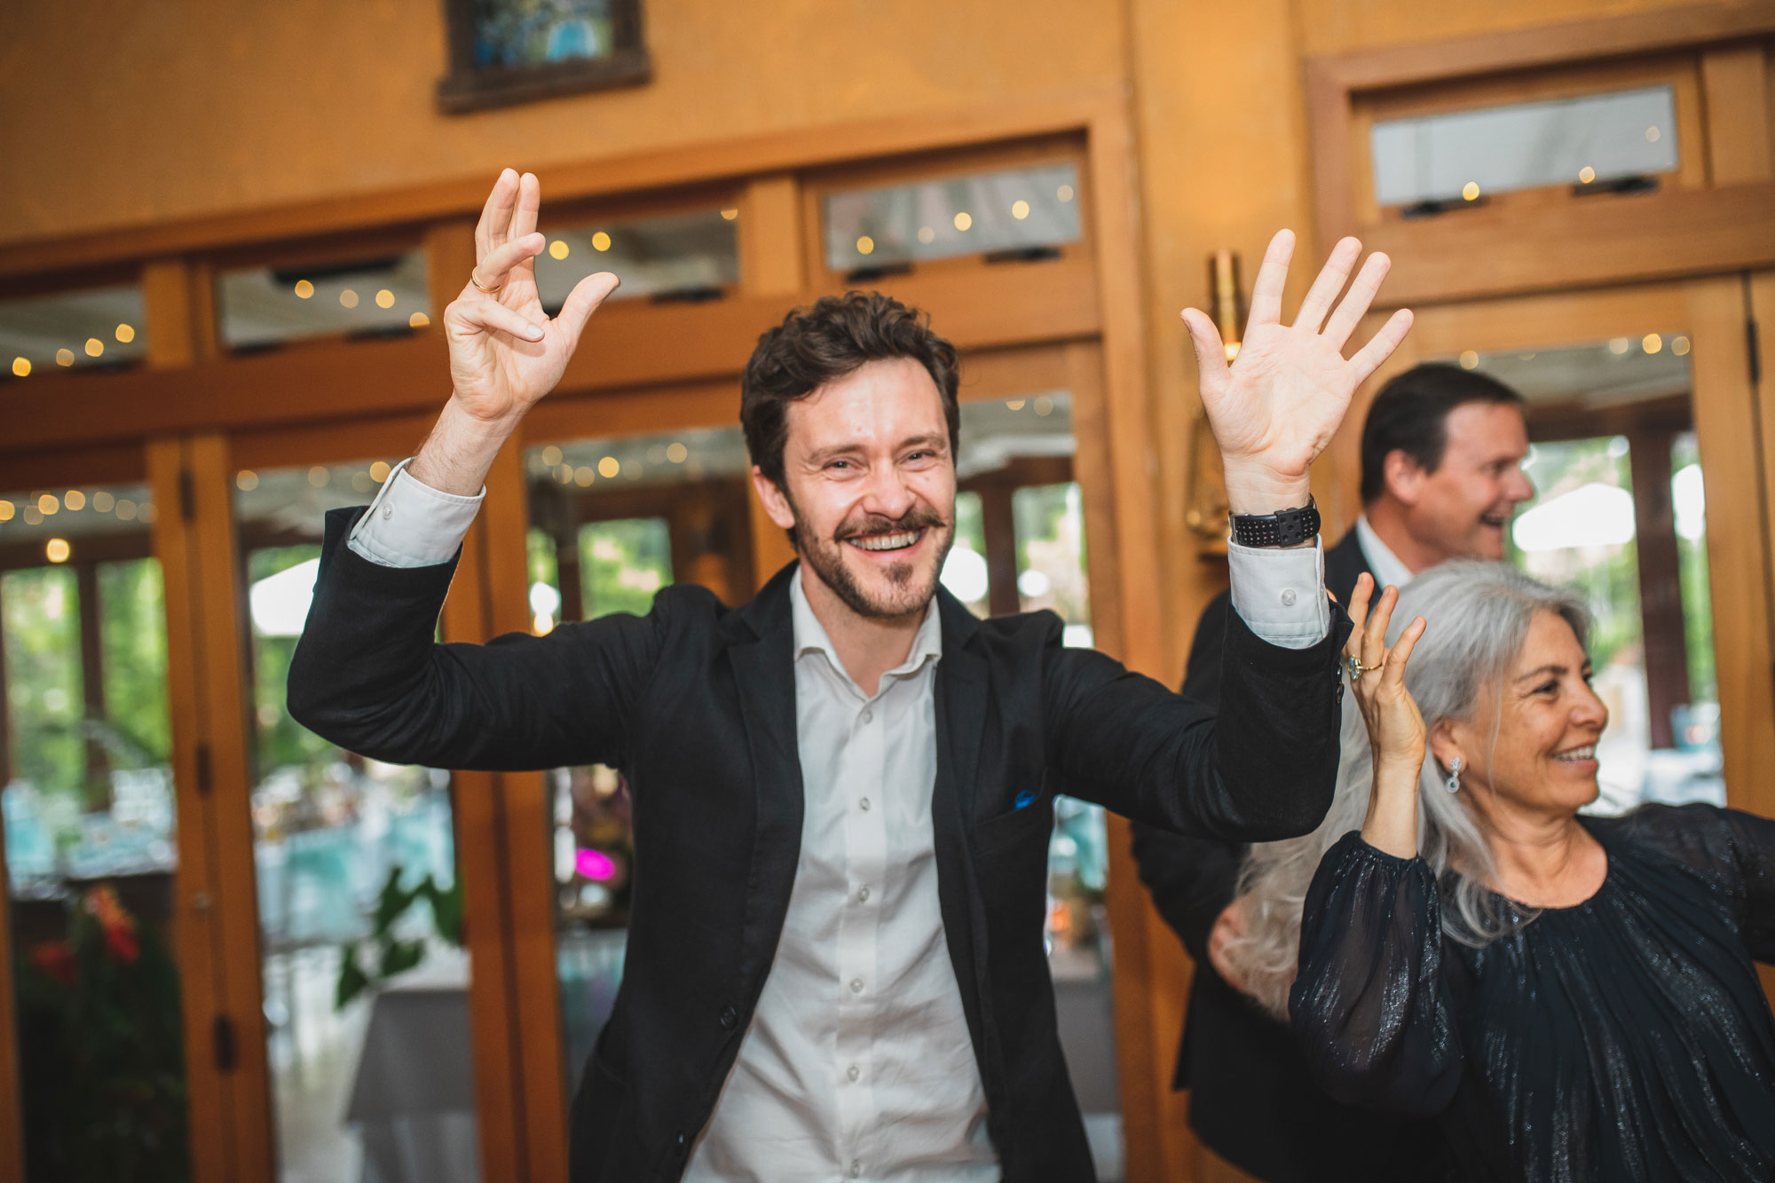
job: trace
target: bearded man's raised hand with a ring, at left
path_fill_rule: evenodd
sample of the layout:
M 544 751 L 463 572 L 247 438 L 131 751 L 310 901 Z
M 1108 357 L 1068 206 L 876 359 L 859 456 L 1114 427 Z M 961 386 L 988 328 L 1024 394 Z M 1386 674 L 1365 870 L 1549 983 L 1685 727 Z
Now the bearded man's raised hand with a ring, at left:
M 499 174 L 474 227 L 474 272 L 444 309 L 453 398 L 479 421 L 515 423 L 552 391 L 586 322 L 618 282 L 609 272 L 588 275 L 550 318 L 536 293 L 540 210 L 534 174 Z

